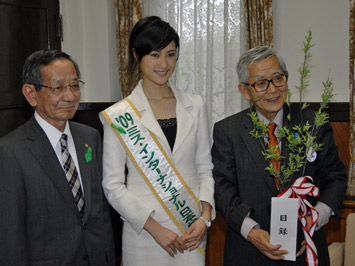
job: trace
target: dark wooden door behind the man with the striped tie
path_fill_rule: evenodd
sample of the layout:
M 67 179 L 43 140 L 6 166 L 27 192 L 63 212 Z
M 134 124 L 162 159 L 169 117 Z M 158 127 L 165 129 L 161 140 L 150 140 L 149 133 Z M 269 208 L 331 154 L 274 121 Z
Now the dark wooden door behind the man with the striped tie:
M 22 95 L 22 67 L 31 53 L 61 48 L 59 0 L 0 0 L 0 137 L 32 108 Z

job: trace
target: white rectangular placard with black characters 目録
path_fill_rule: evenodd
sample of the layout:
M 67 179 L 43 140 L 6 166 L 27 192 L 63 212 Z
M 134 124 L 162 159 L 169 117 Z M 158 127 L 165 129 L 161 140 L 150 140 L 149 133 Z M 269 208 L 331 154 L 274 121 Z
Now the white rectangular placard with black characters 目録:
M 296 260 L 298 199 L 272 198 L 270 242 L 287 250 L 285 260 Z

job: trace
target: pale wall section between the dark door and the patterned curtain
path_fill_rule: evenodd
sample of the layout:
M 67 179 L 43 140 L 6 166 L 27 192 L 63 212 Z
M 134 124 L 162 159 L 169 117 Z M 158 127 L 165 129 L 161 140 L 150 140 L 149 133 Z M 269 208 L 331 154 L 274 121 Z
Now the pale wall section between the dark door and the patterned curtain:
M 60 0 L 60 10 L 62 50 L 78 62 L 85 81 L 81 102 L 119 100 L 115 0 Z

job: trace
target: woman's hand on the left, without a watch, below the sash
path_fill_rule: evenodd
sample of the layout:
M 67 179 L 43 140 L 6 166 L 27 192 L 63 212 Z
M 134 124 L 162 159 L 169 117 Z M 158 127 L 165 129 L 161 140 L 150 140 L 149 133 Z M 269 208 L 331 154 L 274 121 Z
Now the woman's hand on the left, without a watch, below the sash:
M 175 232 L 160 225 L 152 217 L 148 218 L 144 229 L 153 236 L 155 241 L 165 249 L 171 257 L 174 257 L 177 251 L 184 253 L 184 250 L 187 250 L 184 241 Z

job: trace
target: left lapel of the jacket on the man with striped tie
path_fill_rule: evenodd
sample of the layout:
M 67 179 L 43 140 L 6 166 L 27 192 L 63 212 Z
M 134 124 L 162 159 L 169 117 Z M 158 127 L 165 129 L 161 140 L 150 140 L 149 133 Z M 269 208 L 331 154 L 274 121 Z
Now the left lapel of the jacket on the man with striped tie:
M 63 199 L 68 206 L 74 213 L 80 216 L 63 168 L 47 138 L 47 135 L 39 126 L 34 116 L 32 116 L 26 127 L 27 137 L 30 140 L 29 150 L 37 159 L 38 163 L 43 168 L 44 173 L 52 181 L 58 192 L 63 196 Z M 43 189 L 46 188 L 44 187 Z

